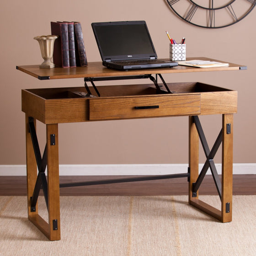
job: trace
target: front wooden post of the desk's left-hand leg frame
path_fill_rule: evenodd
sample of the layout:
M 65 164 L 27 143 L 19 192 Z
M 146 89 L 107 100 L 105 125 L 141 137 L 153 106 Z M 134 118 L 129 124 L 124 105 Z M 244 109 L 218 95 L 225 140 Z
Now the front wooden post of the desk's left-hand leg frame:
M 47 124 L 49 240 L 60 240 L 58 124 Z

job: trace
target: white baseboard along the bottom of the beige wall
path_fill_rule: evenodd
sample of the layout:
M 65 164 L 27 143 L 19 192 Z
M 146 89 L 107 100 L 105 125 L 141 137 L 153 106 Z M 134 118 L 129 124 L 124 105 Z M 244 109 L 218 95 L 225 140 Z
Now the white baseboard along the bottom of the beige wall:
M 221 174 L 221 164 L 215 165 Z M 59 175 L 165 175 L 186 173 L 187 167 L 187 164 L 59 165 Z M 199 170 L 202 167 L 203 164 L 199 164 Z M 209 170 L 207 174 L 210 174 Z M 256 174 L 256 163 L 233 164 L 233 174 Z M 26 176 L 26 165 L 0 165 L 0 176 Z

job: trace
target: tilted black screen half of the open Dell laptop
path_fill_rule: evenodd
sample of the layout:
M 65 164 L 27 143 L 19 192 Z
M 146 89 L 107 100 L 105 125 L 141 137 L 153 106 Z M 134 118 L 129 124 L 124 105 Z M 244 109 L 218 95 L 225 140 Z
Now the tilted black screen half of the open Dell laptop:
M 145 21 L 92 23 L 102 60 L 157 57 Z

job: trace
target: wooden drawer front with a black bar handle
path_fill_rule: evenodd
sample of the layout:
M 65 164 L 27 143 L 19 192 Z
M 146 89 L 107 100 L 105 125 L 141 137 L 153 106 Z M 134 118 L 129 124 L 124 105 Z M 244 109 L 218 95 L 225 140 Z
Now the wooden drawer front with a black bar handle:
M 131 96 L 89 99 L 89 120 L 199 115 L 201 95 Z

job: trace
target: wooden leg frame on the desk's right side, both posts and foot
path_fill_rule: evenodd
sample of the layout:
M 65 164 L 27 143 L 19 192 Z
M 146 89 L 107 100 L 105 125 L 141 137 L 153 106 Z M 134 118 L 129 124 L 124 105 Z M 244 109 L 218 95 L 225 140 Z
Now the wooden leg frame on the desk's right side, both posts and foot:
M 196 194 L 192 191 L 192 184 L 198 176 L 198 136 L 192 117 L 189 117 L 189 167 L 189 203 L 221 222 L 232 221 L 233 114 L 223 114 L 222 118 L 221 211 L 199 200 L 198 191 Z

